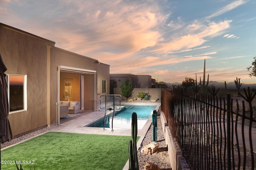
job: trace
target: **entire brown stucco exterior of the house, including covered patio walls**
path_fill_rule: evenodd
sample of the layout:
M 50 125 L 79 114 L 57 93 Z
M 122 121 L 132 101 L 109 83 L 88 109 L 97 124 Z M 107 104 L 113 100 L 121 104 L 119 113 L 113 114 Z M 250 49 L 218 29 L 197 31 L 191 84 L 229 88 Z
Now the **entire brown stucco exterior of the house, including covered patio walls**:
M 55 47 L 54 41 L 0 23 L 0 53 L 6 74 L 27 76 L 27 109 L 8 117 L 14 136 L 56 124 L 63 79 L 72 79 L 71 100 L 83 102 L 83 109 L 98 108 L 102 80 L 109 94 L 108 64 Z

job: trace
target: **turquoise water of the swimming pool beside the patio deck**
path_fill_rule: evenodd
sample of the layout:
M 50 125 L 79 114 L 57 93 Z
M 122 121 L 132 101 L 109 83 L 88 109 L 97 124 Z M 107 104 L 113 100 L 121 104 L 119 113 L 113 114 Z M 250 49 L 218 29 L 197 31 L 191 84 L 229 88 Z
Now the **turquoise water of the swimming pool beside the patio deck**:
M 142 129 L 148 118 L 152 115 L 153 110 L 156 109 L 156 105 L 152 106 L 125 106 L 120 111 L 115 111 L 113 120 L 113 128 L 131 129 L 132 125 L 132 113 L 137 113 L 138 129 Z M 99 119 L 87 127 L 103 127 L 103 119 Z M 105 119 L 105 127 L 112 127 L 112 114 L 107 115 Z

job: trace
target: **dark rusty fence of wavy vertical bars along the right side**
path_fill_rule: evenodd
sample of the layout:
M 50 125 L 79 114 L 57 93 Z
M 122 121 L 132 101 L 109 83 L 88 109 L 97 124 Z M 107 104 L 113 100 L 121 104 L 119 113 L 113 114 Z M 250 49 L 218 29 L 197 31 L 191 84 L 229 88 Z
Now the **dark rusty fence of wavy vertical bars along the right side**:
M 193 170 L 254 170 L 256 92 L 244 89 L 243 100 L 235 103 L 230 94 L 221 98 L 215 88 L 209 92 L 162 89 L 162 111 L 184 158 Z

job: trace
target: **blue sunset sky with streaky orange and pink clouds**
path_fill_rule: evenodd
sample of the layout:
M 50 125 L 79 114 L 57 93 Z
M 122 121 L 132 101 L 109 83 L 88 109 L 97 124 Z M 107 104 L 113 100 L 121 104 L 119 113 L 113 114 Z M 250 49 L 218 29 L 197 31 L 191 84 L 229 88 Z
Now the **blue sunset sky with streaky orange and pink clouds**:
M 256 0 L 0 0 L 0 22 L 164 82 L 256 83 Z

